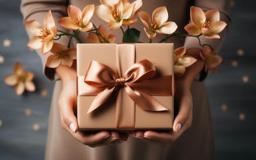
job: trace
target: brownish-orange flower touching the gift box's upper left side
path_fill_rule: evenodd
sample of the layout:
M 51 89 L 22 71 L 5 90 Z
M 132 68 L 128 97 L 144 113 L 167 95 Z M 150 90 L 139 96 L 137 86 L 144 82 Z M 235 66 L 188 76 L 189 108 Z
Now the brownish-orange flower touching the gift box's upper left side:
M 54 43 L 51 52 L 53 53 L 47 59 L 46 66 L 49 68 L 56 68 L 59 65 L 71 67 L 73 59 L 76 59 L 76 48 L 67 48 L 59 43 Z

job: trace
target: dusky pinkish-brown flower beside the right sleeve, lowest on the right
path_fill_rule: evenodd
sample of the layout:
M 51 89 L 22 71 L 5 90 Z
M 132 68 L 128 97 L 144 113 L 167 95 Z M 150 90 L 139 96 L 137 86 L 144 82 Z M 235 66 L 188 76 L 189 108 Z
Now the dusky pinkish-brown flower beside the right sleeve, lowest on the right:
M 214 73 L 217 73 L 216 66 L 223 62 L 222 57 L 220 57 L 213 48 L 209 46 L 204 46 L 204 49 L 200 51 L 200 56 L 205 62 L 204 71 L 206 72 L 207 69 L 211 70 Z

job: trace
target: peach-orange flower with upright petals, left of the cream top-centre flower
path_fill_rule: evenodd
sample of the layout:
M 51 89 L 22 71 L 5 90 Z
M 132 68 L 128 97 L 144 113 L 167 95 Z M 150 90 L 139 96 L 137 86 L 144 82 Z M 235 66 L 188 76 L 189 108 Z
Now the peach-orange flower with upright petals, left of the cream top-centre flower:
M 79 30 L 82 32 L 90 31 L 92 29 L 92 22 L 90 22 L 94 13 L 94 4 L 86 6 L 83 11 L 78 7 L 69 5 L 67 7 L 68 17 L 63 17 L 58 20 L 66 29 Z

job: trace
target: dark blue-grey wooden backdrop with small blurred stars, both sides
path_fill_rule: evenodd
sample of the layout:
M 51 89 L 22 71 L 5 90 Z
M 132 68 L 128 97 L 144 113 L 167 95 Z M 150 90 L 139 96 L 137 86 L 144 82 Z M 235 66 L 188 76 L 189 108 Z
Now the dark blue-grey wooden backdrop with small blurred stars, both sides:
M 225 63 L 206 79 L 217 160 L 256 159 L 256 6 L 231 1 L 232 23 L 220 55 Z M 20 0 L 0 0 L 0 160 L 43 160 L 54 83 L 23 27 Z M 2 81 L 19 61 L 35 73 L 36 92 L 17 96 Z

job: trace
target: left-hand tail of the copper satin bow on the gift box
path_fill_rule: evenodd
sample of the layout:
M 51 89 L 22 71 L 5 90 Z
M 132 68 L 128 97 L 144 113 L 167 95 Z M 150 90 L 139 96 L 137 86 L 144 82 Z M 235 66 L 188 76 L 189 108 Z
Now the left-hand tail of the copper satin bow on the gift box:
M 108 86 L 105 88 L 105 90 L 103 90 L 101 93 L 99 93 L 93 100 L 87 114 L 92 112 L 99 106 L 101 106 L 103 103 L 105 103 L 109 99 L 109 97 L 111 96 L 111 94 L 115 90 L 115 88 L 116 88 L 116 86 Z

